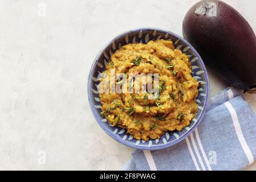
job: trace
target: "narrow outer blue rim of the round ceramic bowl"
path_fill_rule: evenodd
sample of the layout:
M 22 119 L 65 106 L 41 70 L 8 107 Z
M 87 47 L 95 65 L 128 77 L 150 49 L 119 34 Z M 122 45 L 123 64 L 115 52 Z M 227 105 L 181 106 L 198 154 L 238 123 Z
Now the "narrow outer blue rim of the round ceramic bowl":
M 92 88 L 91 85 L 92 85 L 92 76 L 93 76 L 93 71 L 94 69 L 96 68 L 96 65 L 97 65 L 97 62 L 98 60 L 100 59 L 100 56 L 103 54 L 103 52 L 105 51 L 106 48 L 108 48 L 112 42 L 114 42 L 115 40 L 121 38 L 122 36 L 125 36 L 126 34 L 130 34 L 131 32 L 139 32 L 139 31 L 160 31 L 160 32 L 164 32 L 166 34 L 170 34 L 171 36 L 174 36 L 176 37 L 177 39 L 180 39 L 181 42 L 183 42 L 186 46 L 189 46 L 191 48 L 191 51 L 193 52 L 193 54 L 198 57 L 198 61 L 204 71 L 204 76 L 205 76 L 205 82 L 206 82 L 206 97 L 205 97 L 205 101 L 204 101 L 204 105 L 203 105 L 203 109 L 197 119 L 197 122 L 186 132 L 184 133 L 183 135 L 181 135 L 181 137 L 179 139 L 176 139 L 176 140 L 173 140 L 171 142 L 167 142 L 166 144 L 159 144 L 158 146 L 151 146 L 151 147 L 148 147 L 148 146 L 137 146 L 135 145 L 135 143 L 131 143 L 131 142 L 124 142 L 121 138 L 117 137 L 117 135 L 113 134 L 112 131 L 110 131 L 108 128 L 106 128 L 104 126 L 104 123 L 102 123 L 101 119 L 100 119 L 100 114 L 97 113 L 96 111 L 96 108 L 93 107 L 93 97 L 92 97 L 92 94 L 90 92 L 90 89 Z M 201 120 L 203 119 L 204 117 L 204 114 L 205 114 L 205 111 L 207 109 L 207 105 L 208 105 L 208 101 L 209 101 L 209 77 L 208 77 L 208 72 L 207 72 L 207 69 L 204 65 L 204 61 L 203 59 L 201 58 L 201 56 L 199 55 L 199 53 L 196 51 L 195 48 L 193 48 L 193 46 L 191 44 L 189 44 L 187 42 L 187 40 L 185 40 L 184 38 L 181 38 L 181 36 L 179 35 L 176 35 L 174 34 L 173 32 L 171 31 L 168 31 L 168 30 L 164 30 L 162 28 L 154 28 L 154 27 L 142 27 L 142 28 L 134 28 L 132 30 L 128 30 L 128 31 L 125 31 L 121 34 L 119 34 L 118 36 L 116 36 L 115 38 L 113 38 L 112 40 L 110 40 L 106 46 L 104 46 L 100 52 L 97 54 L 96 56 L 96 59 L 93 61 L 93 64 L 92 64 L 92 67 L 90 68 L 90 73 L 89 73 L 89 77 L 88 77 L 88 85 L 87 85 L 87 92 L 88 92 L 88 101 L 89 101 L 89 104 L 90 104 L 90 109 L 92 110 L 92 113 L 93 113 L 93 116 L 94 118 L 96 119 L 98 125 L 101 126 L 101 128 L 111 137 L 113 138 L 114 140 L 116 140 L 117 142 L 119 143 L 122 143 L 124 144 L 125 146 L 129 146 L 129 147 L 132 147 L 132 148 L 137 148 L 139 150 L 160 150 L 160 149 L 163 149 L 163 148 L 167 148 L 167 147 L 170 147 L 170 146 L 173 146 L 179 142 L 181 142 L 182 140 L 184 140 L 185 138 L 187 138 L 195 129 L 196 127 L 199 125 L 199 123 L 201 122 Z

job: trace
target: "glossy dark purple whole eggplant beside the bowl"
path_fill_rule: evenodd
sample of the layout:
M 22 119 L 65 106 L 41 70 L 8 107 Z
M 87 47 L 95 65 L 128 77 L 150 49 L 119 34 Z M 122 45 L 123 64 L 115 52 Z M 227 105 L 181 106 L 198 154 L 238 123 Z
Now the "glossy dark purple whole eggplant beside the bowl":
M 233 7 L 217 0 L 196 3 L 183 20 L 183 36 L 229 84 L 256 88 L 255 34 Z

